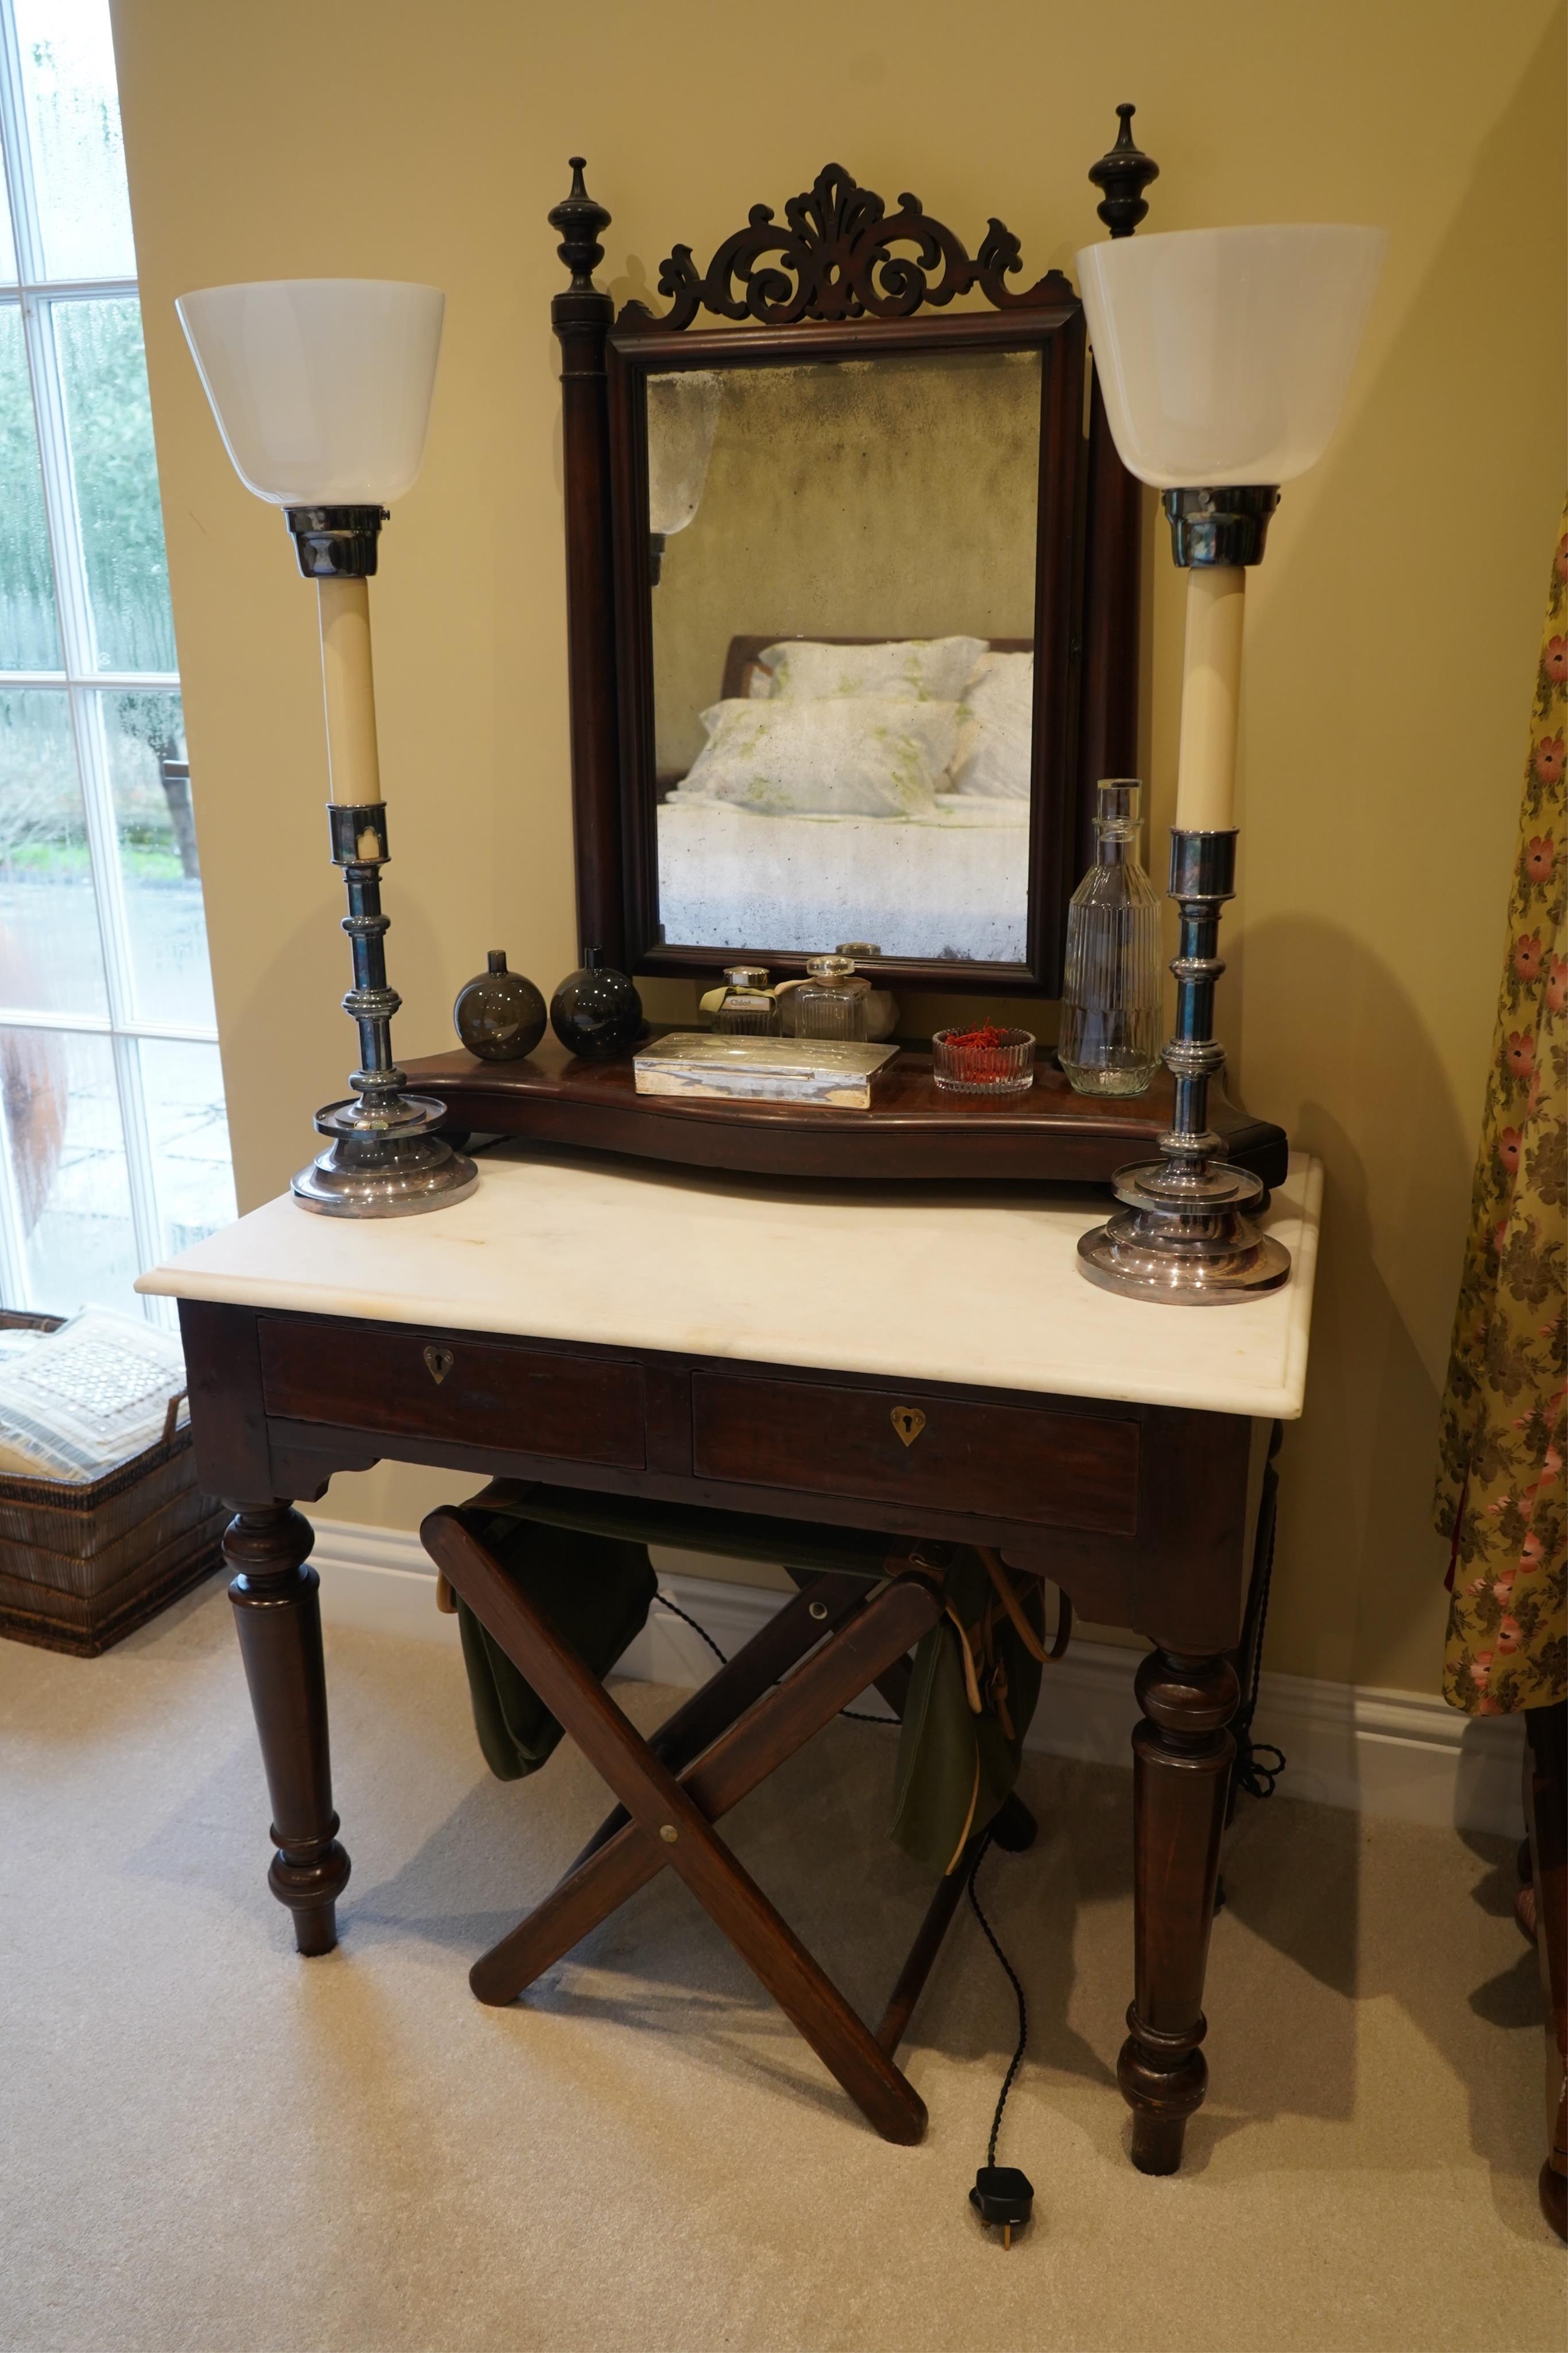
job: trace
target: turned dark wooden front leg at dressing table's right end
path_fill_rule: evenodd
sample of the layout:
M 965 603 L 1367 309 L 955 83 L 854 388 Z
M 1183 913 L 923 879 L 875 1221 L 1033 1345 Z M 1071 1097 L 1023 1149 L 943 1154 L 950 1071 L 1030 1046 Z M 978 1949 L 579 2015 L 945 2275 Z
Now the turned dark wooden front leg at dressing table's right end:
M 1208 2089 L 1199 2049 L 1208 1925 L 1239 1685 L 1229 1659 L 1152 1652 L 1138 1668 L 1133 1732 L 1135 1993 L 1117 2080 L 1133 2111 L 1133 2165 L 1173 2174 L 1187 2118 Z

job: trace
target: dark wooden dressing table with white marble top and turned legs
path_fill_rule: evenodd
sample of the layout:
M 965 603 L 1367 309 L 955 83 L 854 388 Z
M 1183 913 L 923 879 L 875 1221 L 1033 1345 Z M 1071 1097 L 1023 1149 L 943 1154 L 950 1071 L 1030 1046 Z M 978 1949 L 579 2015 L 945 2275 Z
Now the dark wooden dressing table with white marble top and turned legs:
M 1295 1155 L 1269 1207 L 1291 1282 L 1227 1313 L 1084 1282 L 1084 1191 L 759 1184 L 538 1144 L 484 1155 L 440 1217 L 317 1219 L 284 1195 L 143 1275 L 179 1301 L 197 1473 L 235 1511 L 270 1885 L 299 1948 L 331 1948 L 348 1882 L 294 1511 L 336 1471 L 414 1461 L 990 1544 L 1154 1645 L 1135 1675 L 1128 1657 L 1119 2080 L 1133 2162 L 1173 2169 L 1206 2087 L 1248 1515 L 1267 1433 L 1302 1407 L 1319 1193 Z

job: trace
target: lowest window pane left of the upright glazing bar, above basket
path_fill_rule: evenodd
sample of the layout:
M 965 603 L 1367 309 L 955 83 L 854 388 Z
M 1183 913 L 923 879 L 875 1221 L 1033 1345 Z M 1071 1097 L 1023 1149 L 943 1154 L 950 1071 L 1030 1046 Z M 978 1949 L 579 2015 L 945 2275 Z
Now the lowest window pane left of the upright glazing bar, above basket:
M 108 1038 L 0 1028 L 5 1144 L 21 1209 L 26 1306 L 127 1308 L 136 1242 Z

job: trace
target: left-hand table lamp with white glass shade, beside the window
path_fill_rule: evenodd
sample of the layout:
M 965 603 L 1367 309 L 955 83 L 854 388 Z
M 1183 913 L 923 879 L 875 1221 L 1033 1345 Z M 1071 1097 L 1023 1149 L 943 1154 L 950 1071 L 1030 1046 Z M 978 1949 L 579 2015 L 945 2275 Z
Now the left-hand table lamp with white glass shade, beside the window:
M 235 473 L 282 506 L 322 626 L 331 861 L 343 868 L 360 1028 L 353 1094 L 315 1115 L 329 1146 L 294 1179 L 324 1217 L 409 1217 L 470 1193 L 480 1172 L 435 1132 L 447 1106 L 407 1094 L 390 1024 L 369 588 L 390 499 L 418 473 L 447 296 L 374 278 L 205 287 L 176 301 Z

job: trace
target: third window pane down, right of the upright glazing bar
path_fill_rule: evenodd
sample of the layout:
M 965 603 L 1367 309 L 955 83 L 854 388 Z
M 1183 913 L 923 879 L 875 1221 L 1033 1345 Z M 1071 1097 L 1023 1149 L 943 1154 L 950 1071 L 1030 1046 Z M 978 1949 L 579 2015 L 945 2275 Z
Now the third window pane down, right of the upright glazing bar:
M 99 694 L 94 701 L 115 798 L 136 1016 L 216 1028 L 190 779 L 165 781 L 160 765 L 186 758 L 179 694 Z

